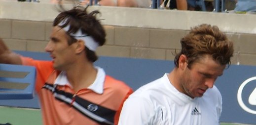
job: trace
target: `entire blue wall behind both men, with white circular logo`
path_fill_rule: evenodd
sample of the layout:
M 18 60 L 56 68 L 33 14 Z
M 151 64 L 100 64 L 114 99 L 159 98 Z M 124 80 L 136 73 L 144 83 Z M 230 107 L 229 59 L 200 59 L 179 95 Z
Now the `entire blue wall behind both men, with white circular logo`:
M 51 59 L 44 52 L 16 52 L 39 60 Z M 108 75 L 123 80 L 134 90 L 174 68 L 173 61 L 106 56 L 100 56 L 95 65 L 104 68 Z M 216 86 L 223 100 L 221 122 L 256 124 L 255 76 L 255 66 L 231 65 L 217 79 Z M 0 105 L 40 108 L 37 96 L 32 100 L 0 100 Z

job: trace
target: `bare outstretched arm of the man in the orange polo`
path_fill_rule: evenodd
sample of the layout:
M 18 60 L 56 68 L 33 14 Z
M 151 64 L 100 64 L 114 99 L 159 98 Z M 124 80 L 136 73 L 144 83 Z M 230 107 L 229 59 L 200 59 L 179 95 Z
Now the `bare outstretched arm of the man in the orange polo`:
M 17 65 L 22 64 L 20 56 L 17 53 L 9 50 L 7 46 L 3 43 L 1 38 L 0 38 L 0 63 L 17 64 Z

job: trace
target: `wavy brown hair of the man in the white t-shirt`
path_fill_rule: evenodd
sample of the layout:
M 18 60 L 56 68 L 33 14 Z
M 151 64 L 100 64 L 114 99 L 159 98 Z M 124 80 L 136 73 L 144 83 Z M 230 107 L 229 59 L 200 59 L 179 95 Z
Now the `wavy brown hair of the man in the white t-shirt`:
M 198 25 L 191 28 L 189 34 L 181 39 L 182 50 L 176 54 L 174 63 L 179 67 L 179 58 L 184 54 L 188 68 L 203 55 L 209 54 L 220 65 L 230 65 L 233 56 L 233 43 L 221 32 L 218 26 Z

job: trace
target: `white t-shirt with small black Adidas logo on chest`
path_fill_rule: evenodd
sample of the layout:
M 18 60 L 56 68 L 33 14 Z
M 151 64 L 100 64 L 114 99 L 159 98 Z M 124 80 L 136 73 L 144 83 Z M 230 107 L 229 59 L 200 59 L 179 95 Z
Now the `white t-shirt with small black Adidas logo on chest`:
M 192 99 L 179 92 L 165 74 L 130 95 L 118 125 L 219 125 L 221 110 L 216 86 Z

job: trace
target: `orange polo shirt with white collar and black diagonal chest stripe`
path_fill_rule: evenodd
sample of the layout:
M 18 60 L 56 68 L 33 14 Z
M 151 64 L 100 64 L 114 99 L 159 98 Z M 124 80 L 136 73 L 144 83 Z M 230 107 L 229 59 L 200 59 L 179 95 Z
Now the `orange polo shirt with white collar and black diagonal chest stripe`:
M 44 125 L 117 125 L 123 102 L 133 92 L 99 67 L 93 84 L 74 93 L 66 73 L 50 61 L 21 57 L 37 68 L 36 91 Z

